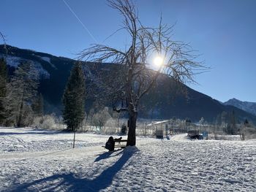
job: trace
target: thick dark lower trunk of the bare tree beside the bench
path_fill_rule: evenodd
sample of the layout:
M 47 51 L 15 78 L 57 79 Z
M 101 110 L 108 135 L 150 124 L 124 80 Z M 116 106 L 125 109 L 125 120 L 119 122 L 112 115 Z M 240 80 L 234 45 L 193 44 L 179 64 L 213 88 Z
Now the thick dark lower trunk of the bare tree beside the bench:
M 137 122 L 137 112 L 130 112 L 127 146 L 136 145 L 136 122 Z

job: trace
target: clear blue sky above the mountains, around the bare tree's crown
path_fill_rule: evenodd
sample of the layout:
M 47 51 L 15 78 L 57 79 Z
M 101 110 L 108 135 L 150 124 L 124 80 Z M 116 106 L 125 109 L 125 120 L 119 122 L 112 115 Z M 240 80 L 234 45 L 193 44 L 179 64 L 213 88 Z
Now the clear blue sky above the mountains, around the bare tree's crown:
M 75 58 L 91 44 L 124 48 L 128 37 L 116 34 L 121 17 L 104 0 L 1 0 L 0 31 L 7 43 L 20 48 Z M 211 71 L 197 75 L 196 91 L 219 101 L 256 101 L 256 1 L 254 0 L 138 0 L 145 26 L 176 26 L 173 39 L 190 42 L 199 61 Z

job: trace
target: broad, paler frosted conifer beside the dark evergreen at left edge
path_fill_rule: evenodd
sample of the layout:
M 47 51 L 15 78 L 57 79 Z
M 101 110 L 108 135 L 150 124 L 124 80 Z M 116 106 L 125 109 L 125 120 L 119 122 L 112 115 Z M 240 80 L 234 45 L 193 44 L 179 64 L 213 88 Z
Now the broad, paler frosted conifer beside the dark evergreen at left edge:
M 37 98 L 39 75 L 31 62 L 21 63 L 7 88 L 7 125 L 28 126 L 33 111 L 31 105 Z M 28 120 L 29 119 L 29 120 Z

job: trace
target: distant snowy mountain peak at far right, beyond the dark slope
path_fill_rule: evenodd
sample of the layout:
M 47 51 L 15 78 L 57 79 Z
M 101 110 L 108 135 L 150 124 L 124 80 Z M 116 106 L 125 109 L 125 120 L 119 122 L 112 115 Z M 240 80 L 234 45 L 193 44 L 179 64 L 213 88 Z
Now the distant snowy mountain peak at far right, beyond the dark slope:
M 240 101 L 238 99 L 233 98 L 233 99 L 230 99 L 230 100 L 224 102 L 224 104 L 237 107 L 238 109 L 252 113 L 252 115 L 256 115 L 256 103 L 255 102 Z

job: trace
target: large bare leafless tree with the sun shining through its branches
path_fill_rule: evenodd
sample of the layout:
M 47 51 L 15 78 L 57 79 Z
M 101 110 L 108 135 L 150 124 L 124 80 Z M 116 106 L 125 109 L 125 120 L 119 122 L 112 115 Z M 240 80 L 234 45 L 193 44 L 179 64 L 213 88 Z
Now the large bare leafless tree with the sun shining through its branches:
M 128 50 L 94 45 L 83 50 L 79 58 L 95 63 L 116 64 L 112 70 L 115 74 L 111 74 L 110 78 L 98 76 L 98 84 L 105 88 L 105 95 L 114 104 L 118 104 L 113 106 L 113 110 L 128 112 L 127 146 L 132 146 L 136 144 L 135 130 L 140 99 L 155 85 L 157 78 L 165 75 L 176 82 L 194 82 L 196 71 L 203 69 L 203 65 L 195 61 L 196 55 L 192 55 L 188 44 L 173 41 L 173 26 L 162 24 L 162 18 L 159 26 L 149 28 L 140 22 L 132 1 L 108 0 L 108 4 L 123 17 L 121 29 L 127 31 L 130 37 Z M 159 64 L 156 70 L 152 70 L 149 65 L 153 55 Z M 104 80 L 99 81 L 99 78 Z

